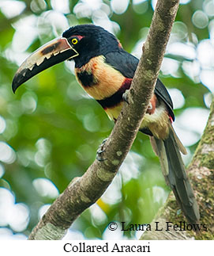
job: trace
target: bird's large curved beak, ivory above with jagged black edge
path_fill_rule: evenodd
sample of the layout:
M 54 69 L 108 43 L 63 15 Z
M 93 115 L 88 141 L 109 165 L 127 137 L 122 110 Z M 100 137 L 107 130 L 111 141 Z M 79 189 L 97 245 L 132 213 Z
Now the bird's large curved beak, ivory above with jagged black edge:
M 29 55 L 18 68 L 13 78 L 13 93 L 23 82 L 28 81 L 39 72 L 66 59 L 72 59 L 77 55 L 79 55 L 78 52 L 72 48 L 65 37 L 60 37 L 44 44 L 32 55 Z

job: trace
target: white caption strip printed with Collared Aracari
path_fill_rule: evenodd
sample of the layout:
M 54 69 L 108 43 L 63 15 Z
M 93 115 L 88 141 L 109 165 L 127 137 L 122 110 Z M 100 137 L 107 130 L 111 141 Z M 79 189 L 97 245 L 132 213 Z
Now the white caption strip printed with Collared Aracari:
M 1 255 L 209 255 L 214 241 L 0 241 Z

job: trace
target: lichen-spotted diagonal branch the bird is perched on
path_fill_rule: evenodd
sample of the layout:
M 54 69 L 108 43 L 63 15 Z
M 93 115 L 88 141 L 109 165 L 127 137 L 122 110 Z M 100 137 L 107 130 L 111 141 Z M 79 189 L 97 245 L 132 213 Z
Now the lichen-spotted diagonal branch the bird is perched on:
M 95 203 L 117 174 L 152 97 L 156 78 L 178 10 L 178 0 L 159 0 L 143 47 L 128 98 L 115 128 L 105 143 L 103 162 L 92 163 L 81 178 L 74 178 L 66 190 L 54 201 L 28 239 L 62 239 L 73 221 Z M 131 121 L 130 121 L 131 120 Z

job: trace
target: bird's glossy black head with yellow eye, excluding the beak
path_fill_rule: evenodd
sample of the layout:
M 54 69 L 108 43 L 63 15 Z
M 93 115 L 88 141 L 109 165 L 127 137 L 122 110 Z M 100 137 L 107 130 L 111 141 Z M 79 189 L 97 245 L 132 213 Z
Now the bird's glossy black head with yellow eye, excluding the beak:
M 63 32 L 62 36 L 79 54 L 73 58 L 76 67 L 88 63 L 93 57 L 119 49 L 116 37 L 96 25 L 77 25 Z

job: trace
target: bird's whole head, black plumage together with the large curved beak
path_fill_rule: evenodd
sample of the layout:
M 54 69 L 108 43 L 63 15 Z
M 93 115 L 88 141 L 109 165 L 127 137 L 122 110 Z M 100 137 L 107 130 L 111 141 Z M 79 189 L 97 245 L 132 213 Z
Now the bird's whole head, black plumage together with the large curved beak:
M 65 60 L 74 60 L 81 67 L 90 59 L 117 51 L 118 40 L 107 30 L 96 25 L 77 25 L 63 32 L 62 37 L 40 47 L 29 55 L 13 78 L 13 92 L 22 83 L 48 67 Z

